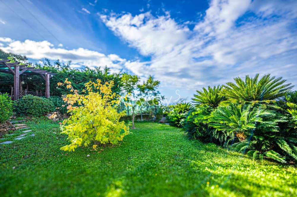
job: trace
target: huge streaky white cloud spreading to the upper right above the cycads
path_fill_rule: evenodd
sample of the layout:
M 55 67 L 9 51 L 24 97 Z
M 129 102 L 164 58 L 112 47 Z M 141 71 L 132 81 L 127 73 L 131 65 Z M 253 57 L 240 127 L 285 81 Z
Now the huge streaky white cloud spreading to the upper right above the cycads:
M 129 69 L 155 75 L 164 86 L 195 90 L 258 72 L 296 83 L 296 3 L 280 4 L 213 0 L 193 29 L 169 12 L 157 17 L 151 12 L 99 16 L 115 35 L 151 57 L 149 63 L 130 64 Z

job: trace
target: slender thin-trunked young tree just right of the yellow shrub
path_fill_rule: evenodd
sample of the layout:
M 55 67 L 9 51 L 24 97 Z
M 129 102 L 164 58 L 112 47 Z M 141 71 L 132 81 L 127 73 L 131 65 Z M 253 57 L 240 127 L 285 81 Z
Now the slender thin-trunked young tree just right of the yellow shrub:
M 122 91 L 126 93 L 125 100 L 132 107 L 132 128 L 135 129 L 134 118 L 135 118 L 135 109 L 136 109 L 136 101 L 139 96 L 137 94 L 139 78 L 136 75 L 129 75 L 124 73 L 121 77 L 122 83 Z

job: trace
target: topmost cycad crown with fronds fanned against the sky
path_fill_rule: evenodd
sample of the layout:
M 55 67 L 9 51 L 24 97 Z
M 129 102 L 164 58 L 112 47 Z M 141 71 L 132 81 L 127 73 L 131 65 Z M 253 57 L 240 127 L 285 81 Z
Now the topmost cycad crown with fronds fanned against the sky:
M 245 80 L 240 77 L 234 78 L 235 83 L 228 82 L 223 85 L 222 95 L 235 101 L 262 101 L 270 102 L 281 96 L 285 96 L 293 86 L 291 83 L 285 84 L 282 77 L 271 77 L 264 75 L 260 80 L 259 74 L 254 78 L 247 75 Z

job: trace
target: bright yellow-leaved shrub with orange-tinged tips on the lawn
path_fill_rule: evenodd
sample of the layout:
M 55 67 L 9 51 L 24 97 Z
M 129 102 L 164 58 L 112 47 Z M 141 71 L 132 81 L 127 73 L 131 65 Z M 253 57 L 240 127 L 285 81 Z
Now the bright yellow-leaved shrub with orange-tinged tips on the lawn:
M 67 78 L 64 83 L 58 83 L 71 93 L 63 98 L 70 117 L 61 125 L 61 133 L 68 135 L 70 144 L 61 150 L 74 151 L 82 145 L 117 144 L 129 134 L 129 127 L 119 121 L 126 112 L 117 112 L 121 100 L 118 94 L 112 93 L 113 84 L 113 81 L 102 84 L 97 79 L 96 83 L 86 83 L 85 89 L 78 92 Z

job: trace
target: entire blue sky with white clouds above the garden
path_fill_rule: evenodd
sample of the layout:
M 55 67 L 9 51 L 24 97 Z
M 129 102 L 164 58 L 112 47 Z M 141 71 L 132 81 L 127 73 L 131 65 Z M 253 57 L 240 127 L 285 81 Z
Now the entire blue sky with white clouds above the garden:
M 0 8 L 2 50 L 153 75 L 168 101 L 247 74 L 297 85 L 297 1 L 0 0 Z

